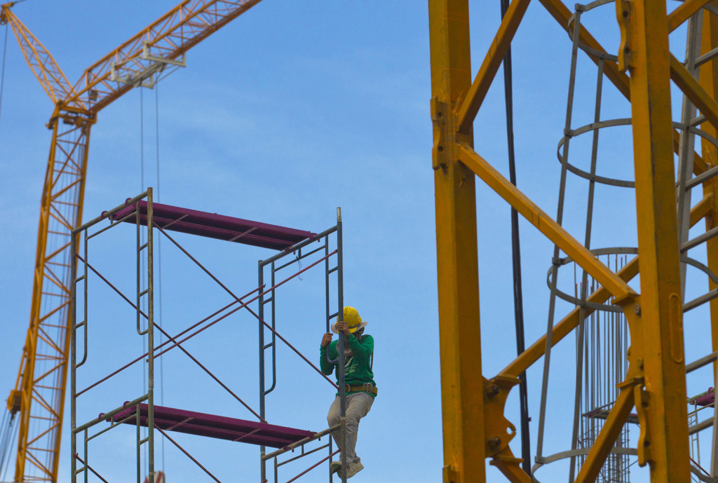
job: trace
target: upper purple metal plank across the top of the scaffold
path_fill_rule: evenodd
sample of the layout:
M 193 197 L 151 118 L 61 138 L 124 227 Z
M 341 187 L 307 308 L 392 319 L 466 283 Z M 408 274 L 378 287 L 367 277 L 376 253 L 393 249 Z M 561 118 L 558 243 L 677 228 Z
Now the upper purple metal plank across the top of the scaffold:
M 130 205 L 112 216 L 112 220 L 136 222 L 135 206 Z M 129 216 L 128 216 L 129 215 Z M 208 238 L 244 243 L 274 250 L 286 250 L 297 243 L 314 238 L 316 233 L 295 230 L 279 225 L 269 225 L 251 220 L 242 220 L 216 213 L 188 210 L 170 205 L 152 203 L 154 222 L 164 230 L 191 233 Z M 139 202 L 139 220 L 147 224 L 147 202 Z

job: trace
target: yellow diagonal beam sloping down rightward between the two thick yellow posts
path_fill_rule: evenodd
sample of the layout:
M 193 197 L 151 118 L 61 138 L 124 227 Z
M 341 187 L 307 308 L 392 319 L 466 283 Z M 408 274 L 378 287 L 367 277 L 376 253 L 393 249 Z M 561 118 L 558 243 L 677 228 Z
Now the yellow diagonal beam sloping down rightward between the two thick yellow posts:
M 618 301 L 636 296 L 635 291 L 619 276 L 605 266 L 584 245 L 573 238 L 564 228 L 533 203 L 526 194 L 505 179 L 488 161 L 479 156 L 470 146 L 459 146 L 461 161 L 475 172 L 483 182 L 508 202 L 521 216 L 531 222 L 549 240 L 559 246 L 569 258 L 587 271 L 604 286 Z

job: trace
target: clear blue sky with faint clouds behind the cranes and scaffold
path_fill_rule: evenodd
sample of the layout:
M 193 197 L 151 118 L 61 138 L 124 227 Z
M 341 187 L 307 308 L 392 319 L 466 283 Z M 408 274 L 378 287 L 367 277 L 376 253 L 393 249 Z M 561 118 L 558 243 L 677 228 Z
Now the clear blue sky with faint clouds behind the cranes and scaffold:
M 29 0 L 14 11 L 74 82 L 88 65 L 172 6 L 174 2 L 165 0 L 128 1 L 121 7 L 90 0 Z M 499 2 L 472 2 L 471 8 L 475 72 L 498 28 Z M 600 39 L 610 51 L 617 47 L 614 16 L 612 7 L 606 6 L 584 17 L 592 32 L 602 34 Z M 681 29 L 671 37 L 674 52 L 682 52 L 683 37 Z M 555 216 L 560 171 L 556 144 L 566 113 L 570 42 L 538 2 L 528 9 L 513 56 L 518 184 Z M 475 146 L 507 174 L 501 72 L 497 78 L 475 123 Z M 585 55 L 579 56 L 578 85 L 574 127 L 589 123 L 593 115 L 595 66 Z M 157 189 L 159 182 L 159 200 L 169 205 L 314 232 L 334 225 L 335 208 L 342 207 L 345 302 L 369 321 L 367 331 L 376 339 L 375 373 L 380 388 L 360 428 L 358 453 L 366 469 L 355 478 L 358 482 L 441 478 L 430 87 L 426 2 L 265 0 L 193 48 L 187 54 L 187 68 L 163 80 L 157 93 L 133 90 L 104 109 L 92 130 L 85 220 L 139 193 L 143 177 L 145 186 Z M 630 116 L 628 103 L 607 82 L 604 95 L 602 118 Z M 677 100 L 674 96 L 673 103 Z M 4 174 L 0 177 L 0 269 L 6 274 L 0 279 L 6 360 L 0 366 L 0 382 L 8 392 L 14 385 L 27 329 L 37 213 L 50 146 L 45 123 L 51 112 L 52 103 L 10 37 L 0 112 Z M 605 161 L 600 161 L 599 173 L 605 169 L 605 175 L 631 179 L 630 132 L 613 129 L 602 137 Z M 577 164 L 587 167 L 589 144 L 575 141 L 574 146 Z M 582 240 L 586 184 L 569 178 L 567 189 L 565 225 Z M 597 197 L 600 228 L 595 230 L 593 246 L 635 245 L 633 192 L 605 188 L 599 189 Z M 516 350 L 509 210 L 490 189 L 477 183 L 477 211 L 482 364 L 484 374 L 490 376 Z M 546 330 L 546 270 L 553 248 L 523 220 L 521 230 L 530 344 Z M 256 261 L 269 256 L 267 251 L 242 245 L 182 240 L 241 293 L 256 285 Z M 187 314 L 207 313 L 223 304 L 226 296 L 222 298 L 170 248 L 162 243 L 162 316 L 164 327 L 178 331 L 186 327 Z M 103 256 L 108 266 L 117 261 L 111 248 L 101 252 Z M 120 268 L 118 277 L 126 275 Z M 695 289 L 699 294 L 704 280 L 696 279 L 701 283 Z M 560 280 L 564 289 L 572 291 L 572 275 Z M 322 302 L 319 283 L 316 276 L 307 276 L 289 284 L 279 322 L 280 332 L 286 332 L 312 358 L 317 357 L 324 332 L 322 320 L 315 315 L 321 313 L 315 305 Z M 556 322 L 570 308 L 559 304 Z M 686 335 L 688 360 L 709 351 L 699 336 L 707 327 L 706 312 L 695 312 L 691 316 L 697 322 L 691 330 L 695 327 L 697 335 Z M 115 317 L 117 321 L 107 319 L 108 327 L 111 322 L 122 327 L 121 316 Z M 238 317 L 198 337 L 192 349 L 256 405 L 252 342 L 256 334 L 246 327 L 256 331 L 251 316 Z M 129 347 L 123 352 L 111 342 L 104 343 L 113 360 L 139 355 L 139 345 L 123 346 L 123 350 Z M 553 355 L 544 454 L 570 446 L 566 401 L 572 406 L 574 355 L 571 337 Z M 270 396 L 268 421 L 317 431 L 325 427 L 333 393 L 311 371 L 299 369 L 299 362 L 288 352 L 279 355 L 279 388 Z M 706 374 L 689 380 L 689 393 L 710 385 Z M 528 372 L 532 449 L 536 448 L 540 377 L 537 364 Z M 181 355 L 167 358 L 164 378 L 167 405 L 248 418 L 236 402 L 218 395 L 218 389 Z M 115 400 L 131 399 L 141 389 L 137 381 L 118 385 Z M 507 415 L 518 426 L 518 390 L 510 395 Z M 186 441 L 205 466 L 222 475 L 220 479 L 258 479 L 255 447 Z M 69 481 L 68 447 L 69 438 L 65 438 L 62 482 Z M 518 437 L 512 447 L 515 454 L 520 453 Z M 114 471 L 113 464 L 108 465 L 108 472 Z M 541 469 L 537 477 L 549 481 L 564 475 L 566 467 L 561 465 Z M 167 449 L 164 470 L 170 482 L 195 481 L 190 466 L 184 456 Z M 498 481 L 495 469 L 489 467 L 488 472 L 491 481 Z M 632 477 L 641 481 L 645 472 L 635 471 Z

